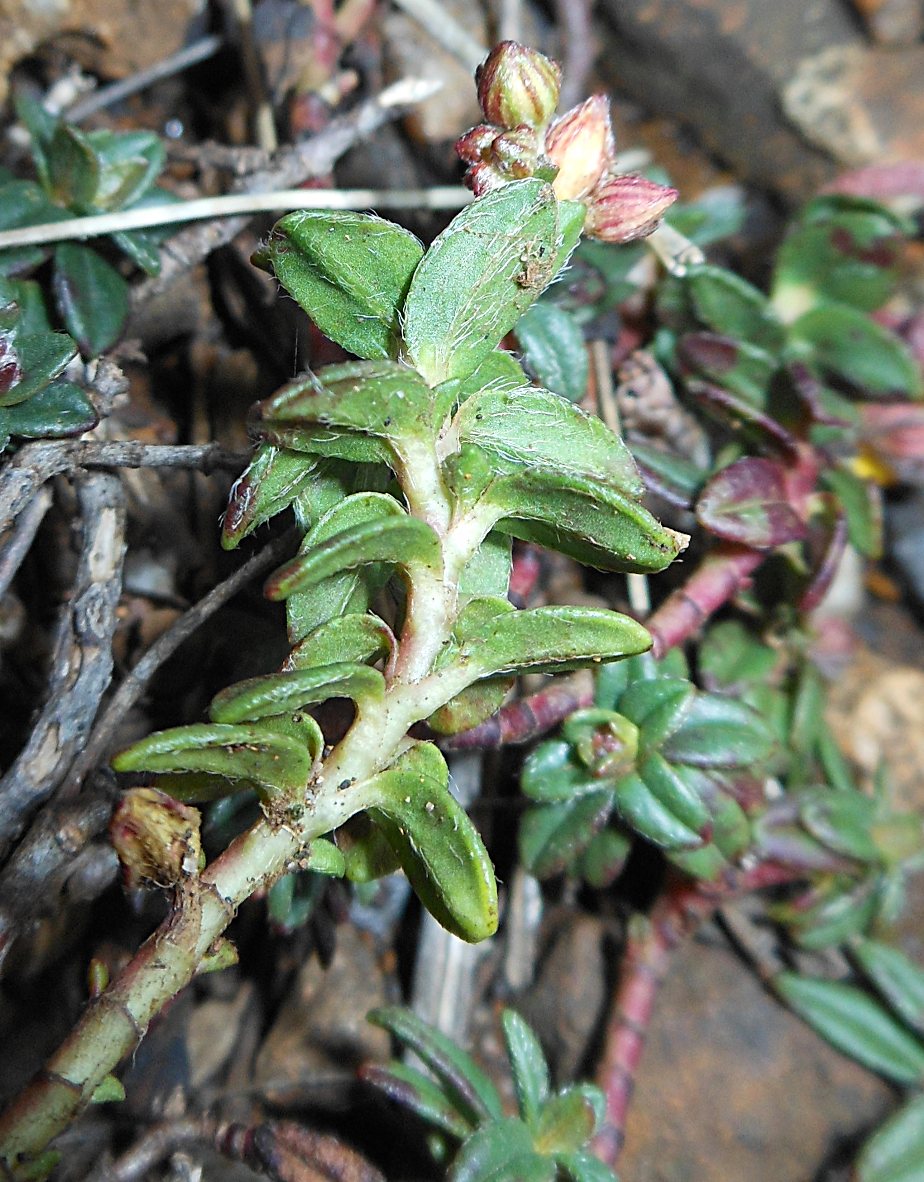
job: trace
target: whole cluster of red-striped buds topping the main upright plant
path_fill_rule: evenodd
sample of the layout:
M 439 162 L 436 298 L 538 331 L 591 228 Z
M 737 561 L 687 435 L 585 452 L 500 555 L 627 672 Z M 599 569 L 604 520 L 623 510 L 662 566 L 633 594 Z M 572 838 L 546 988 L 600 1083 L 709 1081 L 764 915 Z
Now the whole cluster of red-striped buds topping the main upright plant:
M 677 190 L 616 170 L 610 103 L 594 95 L 558 119 L 561 71 L 535 50 L 501 41 L 475 79 L 486 123 L 466 132 L 456 151 L 466 183 L 481 196 L 509 181 L 552 181 L 559 201 L 587 207 L 585 232 L 604 242 L 633 242 L 657 228 Z

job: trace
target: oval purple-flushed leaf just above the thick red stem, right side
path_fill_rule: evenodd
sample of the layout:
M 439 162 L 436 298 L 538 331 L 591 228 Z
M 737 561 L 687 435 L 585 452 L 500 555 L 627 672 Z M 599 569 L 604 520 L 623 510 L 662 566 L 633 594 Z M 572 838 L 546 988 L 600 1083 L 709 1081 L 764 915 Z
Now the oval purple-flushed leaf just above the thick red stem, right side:
M 773 550 L 801 541 L 806 526 L 788 501 L 782 468 L 748 456 L 718 472 L 696 505 L 702 526 L 723 541 Z

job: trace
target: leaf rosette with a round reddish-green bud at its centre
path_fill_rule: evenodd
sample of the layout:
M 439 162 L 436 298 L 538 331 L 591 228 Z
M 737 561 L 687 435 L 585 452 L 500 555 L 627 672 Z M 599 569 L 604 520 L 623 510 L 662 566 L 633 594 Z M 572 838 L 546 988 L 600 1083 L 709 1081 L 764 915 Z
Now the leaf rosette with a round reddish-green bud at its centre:
M 540 878 L 565 871 L 601 886 L 638 836 L 714 878 L 750 845 L 749 810 L 773 752 L 768 723 L 735 697 L 697 689 L 679 652 L 609 667 L 594 707 L 523 765 L 522 863 Z

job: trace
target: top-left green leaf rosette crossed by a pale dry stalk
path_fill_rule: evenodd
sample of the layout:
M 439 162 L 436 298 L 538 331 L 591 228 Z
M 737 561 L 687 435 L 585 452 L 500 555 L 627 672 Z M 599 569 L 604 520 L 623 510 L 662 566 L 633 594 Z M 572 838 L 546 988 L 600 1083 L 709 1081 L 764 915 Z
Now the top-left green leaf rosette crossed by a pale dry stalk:
M 0 228 L 15 229 L 117 210 L 164 204 L 171 195 L 156 184 L 165 152 L 152 131 L 84 131 L 20 97 L 30 132 L 35 181 L 0 180 Z M 109 241 L 148 274 L 160 271 L 160 230 L 119 230 Z M 129 287 L 96 246 L 61 242 L 0 251 L 0 273 L 20 275 L 51 256 L 52 292 L 65 327 L 80 352 L 95 357 L 116 343 L 129 314 Z

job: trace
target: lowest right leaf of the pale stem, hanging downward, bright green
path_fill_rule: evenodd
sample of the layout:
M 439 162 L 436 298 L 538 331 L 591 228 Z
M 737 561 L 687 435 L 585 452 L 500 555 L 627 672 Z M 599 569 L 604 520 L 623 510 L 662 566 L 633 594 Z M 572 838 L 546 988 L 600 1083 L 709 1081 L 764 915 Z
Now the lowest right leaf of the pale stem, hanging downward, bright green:
M 364 806 L 430 914 L 476 943 L 497 928 L 497 884 L 468 813 L 451 795 L 432 743 L 416 743 L 363 786 Z

